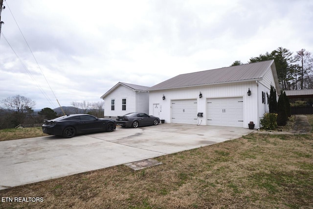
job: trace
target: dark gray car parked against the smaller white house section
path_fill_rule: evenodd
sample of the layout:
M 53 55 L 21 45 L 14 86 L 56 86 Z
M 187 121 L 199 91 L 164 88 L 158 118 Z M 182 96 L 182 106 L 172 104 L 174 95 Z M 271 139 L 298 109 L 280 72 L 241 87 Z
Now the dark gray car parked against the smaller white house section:
M 145 125 L 157 125 L 160 119 L 156 116 L 148 116 L 145 113 L 129 113 L 124 116 L 116 117 L 116 124 L 122 127 L 133 127 Z

